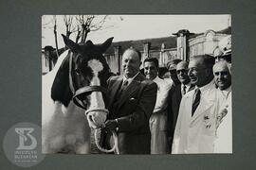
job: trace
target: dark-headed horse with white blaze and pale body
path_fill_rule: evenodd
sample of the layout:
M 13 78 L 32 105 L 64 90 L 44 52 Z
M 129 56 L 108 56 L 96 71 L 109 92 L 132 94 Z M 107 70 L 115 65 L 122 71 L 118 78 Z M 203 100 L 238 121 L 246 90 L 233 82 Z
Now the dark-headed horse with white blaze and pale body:
M 42 152 L 87 154 L 91 127 L 103 126 L 108 113 L 104 88 L 112 73 L 102 54 L 114 38 L 94 44 L 62 36 L 68 50 L 42 77 Z

